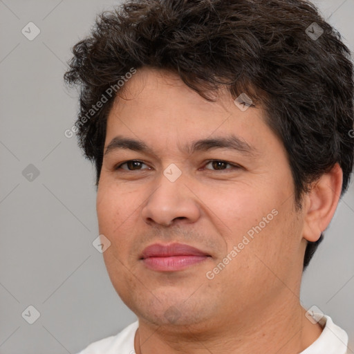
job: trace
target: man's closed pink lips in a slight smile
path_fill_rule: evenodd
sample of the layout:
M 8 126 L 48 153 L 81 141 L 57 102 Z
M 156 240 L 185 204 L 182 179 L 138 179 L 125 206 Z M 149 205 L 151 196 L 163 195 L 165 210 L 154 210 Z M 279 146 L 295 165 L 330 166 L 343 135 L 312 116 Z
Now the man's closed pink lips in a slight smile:
M 158 272 L 175 272 L 206 261 L 211 255 L 182 243 L 162 245 L 154 243 L 142 252 L 144 265 Z

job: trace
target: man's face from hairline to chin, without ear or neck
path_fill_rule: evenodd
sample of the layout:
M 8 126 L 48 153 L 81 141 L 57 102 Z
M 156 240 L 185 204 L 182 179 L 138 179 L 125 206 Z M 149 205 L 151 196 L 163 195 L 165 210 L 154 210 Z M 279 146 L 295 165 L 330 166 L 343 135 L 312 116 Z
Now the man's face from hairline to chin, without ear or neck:
M 178 77 L 147 68 L 126 85 L 109 114 L 105 149 L 119 136 L 149 151 L 111 144 L 97 192 L 100 234 L 111 241 L 104 261 L 124 303 L 150 323 L 225 326 L 293 301 L 304 218 L 264 111 L 241 110 L 226 90 L 207 102 Z M 239 149 L 185 149 L 231 136 Z M 144 252 L 156 243 L 201 254 Z

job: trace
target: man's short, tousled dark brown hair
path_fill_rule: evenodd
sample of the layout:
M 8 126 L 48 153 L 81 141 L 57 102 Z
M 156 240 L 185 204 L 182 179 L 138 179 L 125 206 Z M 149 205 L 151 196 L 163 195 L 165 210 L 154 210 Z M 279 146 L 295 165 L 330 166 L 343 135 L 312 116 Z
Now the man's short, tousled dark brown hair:
M 314 24 L 315 23 L 315 24 Z M 319 37 L 310 33 L 322 30 Z M 310 32 L 310 33 L 309 33 Z M 322 35 L 321 35 L 322 33 Z M 100 180 L 106 119 L 115 95 L 96 102 L 131 68 L 171 71 L 205 100 L 227 87 L 261 104 L 281 139 L 295 207 L 311 183 L 339 163 L 342 194 L 353 169 L 353 63 L 342 37 L 307 0 L 129 0 L 97 15 L 73 46 L 64 75 L 80 87 L 75 131 Z M 308 242 L 304 269 L 317 242 Z

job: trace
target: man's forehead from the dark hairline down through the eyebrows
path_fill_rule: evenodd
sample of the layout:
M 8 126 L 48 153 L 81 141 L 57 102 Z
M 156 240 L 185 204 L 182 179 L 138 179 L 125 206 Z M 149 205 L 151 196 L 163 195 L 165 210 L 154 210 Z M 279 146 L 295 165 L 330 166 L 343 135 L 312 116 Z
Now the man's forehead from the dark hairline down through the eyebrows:
M 241 111 L 226 88 L 208 102 L 174 73 L 151 68 L 139 69 L 123 88 L 109 113 L 106 153 L 176 145 L 187 154 L 225 147 L 252 155 L 272 134 L 261 106 Z

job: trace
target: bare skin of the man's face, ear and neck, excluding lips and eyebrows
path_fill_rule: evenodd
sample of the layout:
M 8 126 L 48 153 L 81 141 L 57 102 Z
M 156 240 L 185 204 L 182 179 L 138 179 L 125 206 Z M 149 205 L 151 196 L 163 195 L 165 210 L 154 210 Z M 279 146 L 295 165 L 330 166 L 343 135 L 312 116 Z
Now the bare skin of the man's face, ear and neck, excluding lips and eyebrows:
M 233 101 L 221 88 L 216 102 L 207 102 L 176 75 L 145 67 L 125 84 L 109 114 L 105 147 L 119 135 L 143 140 L 154 152 L 106 153 L 97 191 L 100 234 L 111 241 L 106 268 L 139 319 L 137 354 L 295 354 L 322 333 L 300 304 L 302 264 L 306 240 L 317 240 L 333 217 L 342 170 L 335 165 L 313 183 L 297 212 L 281 140 L 261 106 L 241 111 Z M 254 156 L 183 150 L 192 140 L 230 132 L 254 147 Z M 127 160 L 143 163 L 115 169 Z M 182 172 L 174 182 L 163 174 L 172 163 Z M 207 279 L 272 209 L 277 216 Z M 142 250 L 173 241 L 211 257 L 177 272 L 145 267 Z

